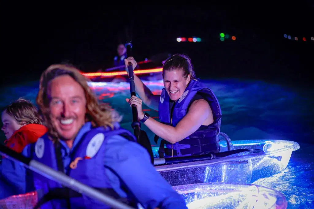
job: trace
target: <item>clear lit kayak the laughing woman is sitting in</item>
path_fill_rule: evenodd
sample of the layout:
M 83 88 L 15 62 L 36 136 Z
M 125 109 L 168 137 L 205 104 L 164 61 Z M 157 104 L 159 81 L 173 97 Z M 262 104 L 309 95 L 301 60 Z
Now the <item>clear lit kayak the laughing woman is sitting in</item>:
M 248 184 L 284 170 L 292 151 L 300 148 L 298 143 L 287 140 L 258 139 L 231 142 L 225 133 L 219 134 L 219 140 L 221 152 L 236 149 L 250 151 L 216 159 L 200 156 L 200 159 L 168 163 L 167 159 L 155 158 L 155 169 L 172 186 L 208 182 Z M 153 148 L 153 153 L 154 156 L 158 155 L 157 147 Z

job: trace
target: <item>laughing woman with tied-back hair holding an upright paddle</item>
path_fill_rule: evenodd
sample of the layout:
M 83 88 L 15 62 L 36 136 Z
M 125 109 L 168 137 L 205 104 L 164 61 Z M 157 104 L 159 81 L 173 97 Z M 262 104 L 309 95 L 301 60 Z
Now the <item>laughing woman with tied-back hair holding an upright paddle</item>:
M 126 66 L 131 62 L 133 69 L 137 65 L 133 57 L 124 61 Z M 140 98 L 126 99 L 130 105 L 137 106 L 140 121 L 156 134 L 156 144 L 158 138 L 162 138 L 158 151 L 160 158 L 219 152 L 219 102 L 211 89 L 197 81 L 190 58 L 182 54 L 168 58 L 163 65 L 163 79 L 165 88 L 161 95 L 154 95 L 134 75 Z M 158 110 L 160 122 L 143 113 L 142 101 Z

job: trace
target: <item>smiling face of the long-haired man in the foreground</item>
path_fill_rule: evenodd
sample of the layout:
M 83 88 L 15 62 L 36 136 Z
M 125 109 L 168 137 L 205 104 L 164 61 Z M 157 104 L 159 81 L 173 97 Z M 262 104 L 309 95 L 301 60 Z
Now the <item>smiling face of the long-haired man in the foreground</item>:
M 52 127 L 72 148 L 74 138 L 85 123 L 84 90 L 71 76 L 57 76 L 48 85 L 47 96 Z

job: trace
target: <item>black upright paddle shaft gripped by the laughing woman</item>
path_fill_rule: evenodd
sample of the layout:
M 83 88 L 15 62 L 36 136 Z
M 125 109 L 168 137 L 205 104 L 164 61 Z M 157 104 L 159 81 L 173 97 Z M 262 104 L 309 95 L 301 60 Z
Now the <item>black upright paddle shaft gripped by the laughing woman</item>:
M 127 42 L 125 44 L 125 47 L 127 48 L 127 56 L 131 57 L 132 52 L 132 44 L 131 42 Z M 130 92 L 131 92 L 131 97 L 136 96 L 135 93 L 135 83 L 134 83 L 134 73 L 133 73 L 133 65 L 131 62 L 128 63 L 127 65 L 128 71 L 129 71 L 129 82 L 130 82 Z M 140 136 L 140 129 L 141 129 L 141 123 L 138 121 L 138 112 L 137 112 L 137 107 L 136 105 L 132 105 L 132 115 L 133 115 L 133 122 L 131 124 L 132 128 L 134 129 L 134 135 L 139 140 Z

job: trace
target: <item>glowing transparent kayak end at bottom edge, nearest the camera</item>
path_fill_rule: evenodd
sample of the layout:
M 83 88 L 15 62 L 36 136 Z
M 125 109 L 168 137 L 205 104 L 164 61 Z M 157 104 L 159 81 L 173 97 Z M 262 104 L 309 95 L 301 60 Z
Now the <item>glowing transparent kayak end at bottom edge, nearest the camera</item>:
M 203 183 L 173 186 L 181 194 L 188 208 L 287 208 L 287 201 L 279 191 L 250 184 Z

